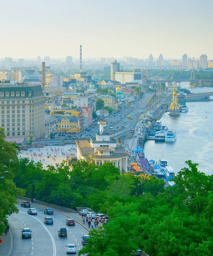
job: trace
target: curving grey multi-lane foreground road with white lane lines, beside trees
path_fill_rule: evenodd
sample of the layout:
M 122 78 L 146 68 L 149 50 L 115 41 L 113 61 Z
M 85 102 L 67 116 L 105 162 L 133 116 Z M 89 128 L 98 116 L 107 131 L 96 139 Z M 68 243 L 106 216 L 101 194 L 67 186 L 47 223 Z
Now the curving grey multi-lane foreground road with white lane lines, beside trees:
M 37 209 L 37 215 L 28 215 L 29 208 L 21 207 L 20 204 L 17 207 L 19 212 L 9 216 L 9 225 L 14 236 L 12 256 L 43 256 L 47 254 L 48 256 L 62 256 L 66 255 L 67 244 L 76 244 L 77 252 L 82 248 L 81 237 L 87 235 L 88 231 L 78 223 L 75 223 L 75 226 L 66 226 L 67 217 L 62 214 L 74 219 L 77 217 L 79 220 L 80 215 L 54 210 L 54 214 L 50 215 L 54 219 L 54 224 L 46 225 L 43 221 L 46 216 L 43 213 L 45 207 L 33 204 L 32 208 Z M 21 231 L 24 227 L 29 227 L 32 230 L 32 239 L 21 238 Z M 67 238 L 58 236 L 58 230 L 61 227 L 67 228 Z

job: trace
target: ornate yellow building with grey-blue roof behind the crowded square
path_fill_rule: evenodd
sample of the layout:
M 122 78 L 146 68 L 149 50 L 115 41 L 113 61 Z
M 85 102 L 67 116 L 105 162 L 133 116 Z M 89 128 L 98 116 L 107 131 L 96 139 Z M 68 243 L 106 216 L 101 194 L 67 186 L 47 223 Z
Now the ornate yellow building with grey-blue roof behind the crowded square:
M 80 112 L 74 110 L 54 110 L 49 114 L 58 119 L 58 132 L 66 134 L 77 134 L 80 132 L 83 122 Z

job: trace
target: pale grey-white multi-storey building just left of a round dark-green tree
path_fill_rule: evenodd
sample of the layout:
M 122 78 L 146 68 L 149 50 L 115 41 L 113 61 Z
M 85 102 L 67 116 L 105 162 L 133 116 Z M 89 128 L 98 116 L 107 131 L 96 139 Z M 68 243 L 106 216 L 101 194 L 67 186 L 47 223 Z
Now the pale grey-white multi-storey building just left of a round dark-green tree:
M 96 93 L 81 93 L 77 96 L 77 108 L 91 107 L 92 112 L 96 111 Z

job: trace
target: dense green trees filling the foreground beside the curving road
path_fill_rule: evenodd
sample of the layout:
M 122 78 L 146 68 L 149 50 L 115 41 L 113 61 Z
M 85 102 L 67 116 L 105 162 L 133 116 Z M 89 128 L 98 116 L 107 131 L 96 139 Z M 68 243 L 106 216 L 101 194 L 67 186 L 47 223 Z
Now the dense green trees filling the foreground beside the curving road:
M 213 175 L 198 164 L 174 177 L 165 187 L 154 176 L 122 174 L 112 163 L 96 166 L 92 159 L 63 161 L 58 169 L 18 160 L 17 147 L 0 130 L 0 232 L 7 216 L 18 209 L 16 195 L 76 209 L 88 207 L 107 214 L 108 224 L 91 230 L 88 256 L 130 256 L 139 247 L 150 256 L 212 256 Z M 0 177 L 1 177 L 0 176 Z

